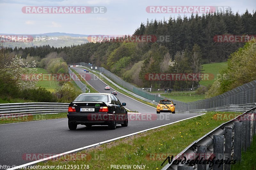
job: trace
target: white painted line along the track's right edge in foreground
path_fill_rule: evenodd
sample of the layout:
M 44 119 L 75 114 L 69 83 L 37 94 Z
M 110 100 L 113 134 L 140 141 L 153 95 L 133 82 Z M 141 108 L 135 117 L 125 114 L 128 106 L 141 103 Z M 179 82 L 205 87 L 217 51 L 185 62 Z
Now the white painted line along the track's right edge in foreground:
M 205 115 L 205 113 L 200 113 L 200 114 Z M 171 124 L 174 124 L 174 123 L 178 123 L 178 122 L 181 122 L 181 121 L 184 121 L 184 120 L 188 120 L 188 119 L 192 119 L 194 117 L 198 117 L 198 116 L 202 116 L 202 115 L 196 115 L 196 116 L 189 117 L 189 118 L 186 118 L 186 119 L 182 119 L 182 120 L 179 120 L 179 121 L 176 121 L 176 122 L 164 124 L 164 125 L 161 125 L 161 126 L 156 126 L 154 128 L 150 128 L 150 129 L 141 130 L 139 132 L 134 132 L 134 133 L 131 133 L 131 134 L 128 134 L 128 135 L 124 135 L 124 136 L 121 136 L 121 137 L 116 137 L 114 139 L 109 139 L 109 140 L 106 140 L 106 141 L 103 141 L 103 142 L 100 142 L 100 143 L 91 144 L 91 145 L 88 145 L 88 146 L 84 146 L 82 148 L 74 149 L 74 150 L 71 150 L 71 151 L 68 151 L 68 152 L 63 152 L 63 153 L 60 153 L 60 154 L 57 154 L 57 155 L 53 155 L 51 157 L 47 157 L 47 158 L 44 158 L 44 159 L 39 159 L 39 160 L 36 160 L 36 161 L 33 161 L 33 162 L 29 162 L 27 164 L 19 165 L 19 166 L 16 166 L 16 167 L 13 167 L 13 168 L 10 168 L 10 169 L 7 169 L 7 170 L 14 170 L 14 169 L 22 168 L 24 166 L 30 166 L 30 165 L 36 164 L 38 162 L 42 162 L 42 161 L 45 161 L 45 160 L 49 160 L 49 159 L 53 159 L 53 158 L 56 158 L 56 157 L 60 157 L 60 156 L 63 156 L 63 155 L 66 155 L 66 154 L 69 154 L 69 153 L 72 153 L 72 152 L 77 152 L 77 151 L 80 151 L 80 150 L 83 150 L 83 149 L 86 149 L 86 148 L 90 148 L 90 147 L 93 147 L 93 146 L 105 144 L 105 143 L 112 142 L 112 141 L 117 140 L 117 139 L 121 139 L 121 138 L 124 138 L 124 137 L 129 137 L 129 136 L 132 136 L 132 135 L 136 135 L 138 133 L 142 133 L 142 132 L 146 132 L 148 130 L 152 130 L 152 129 L 160 128 L 160 127 L 163 127 L 163 126 L 171 125 Z

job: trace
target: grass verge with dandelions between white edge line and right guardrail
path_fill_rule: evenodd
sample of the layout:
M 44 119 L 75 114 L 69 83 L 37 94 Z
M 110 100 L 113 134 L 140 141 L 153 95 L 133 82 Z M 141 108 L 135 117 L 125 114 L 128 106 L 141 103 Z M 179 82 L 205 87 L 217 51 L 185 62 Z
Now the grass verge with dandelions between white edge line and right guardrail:
M 167 155 L 177 155 L 195 140 L 227 122 L 216 121 L 213 115 L 218 113 L 228 112 L 208 112 L 38 165 L 89 165 L 94 170 L 110 169 L 111 165 L 145 165 L 145 169 L 161 169 Z

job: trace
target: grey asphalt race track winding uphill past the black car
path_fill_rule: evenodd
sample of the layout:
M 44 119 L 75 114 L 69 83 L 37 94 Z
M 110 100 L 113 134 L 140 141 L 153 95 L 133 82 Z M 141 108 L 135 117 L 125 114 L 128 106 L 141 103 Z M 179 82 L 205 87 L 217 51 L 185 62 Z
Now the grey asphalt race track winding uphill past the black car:
M 91 79 L 86 78 L 87 82 L 97 91 L 108 93 L 113 91 L 113 89 L 104 90 L 106 84 L 98 78 L 94 78 L 92 73 L 85 73 L 81 68 L 73 68 L 79 73 L 88 74 L 87 78 L 91 77 Z M 129 120 L 128 127 L 118 125 L 115 130 L 108 130 L 107 126 L 87 128 L 83 125 L 78 125 L 76 131 L 71 131 L 68 129 L 67 118 L 0 125 L 0 165 L 18 166 L 26 164 L 34 161 L 27 158 L 29 154 L 55 155 L 198 115 L 156 114 L 155 108 L 118 92 L 117 98 L 120 102 L 127 103 L 127 109 L 136 110 L 141 115 L 151 114 L 151 118 Z M 129 115 L 131 116 L 132 114 Z

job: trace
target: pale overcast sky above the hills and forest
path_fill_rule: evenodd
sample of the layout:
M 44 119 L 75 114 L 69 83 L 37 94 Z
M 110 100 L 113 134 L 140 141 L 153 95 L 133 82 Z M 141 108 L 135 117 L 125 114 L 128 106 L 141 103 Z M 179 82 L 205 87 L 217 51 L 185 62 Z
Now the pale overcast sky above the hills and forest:
M 28 14 L 24 6 L 104 6 L 106 13 Z M 64 32 L 78 34 L 132 34 L 141 22 L 177 18 L 177 13 L 148 13 L 147 6 L 230 6 L 232 11 L 252 13 L 255 0 L 0 0 L 0 33 L 38 34 Z M 180 13 L 181 16 L 184 13 Z M 188 17 L 190 13 L 186 14 Z M 201 15 L 201 14 L 200 14 Z

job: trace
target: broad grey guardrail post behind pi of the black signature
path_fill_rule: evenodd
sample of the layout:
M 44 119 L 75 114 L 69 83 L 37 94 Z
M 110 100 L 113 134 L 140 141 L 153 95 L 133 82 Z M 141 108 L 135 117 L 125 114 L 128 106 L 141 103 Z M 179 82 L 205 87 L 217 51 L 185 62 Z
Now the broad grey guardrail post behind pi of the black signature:
M 213 136 L 213 155 L 216 159 L 224 159 L 224 136 L 214 135 Z M 223 165 L 213 164 L 213 170 L 223 170 Z

